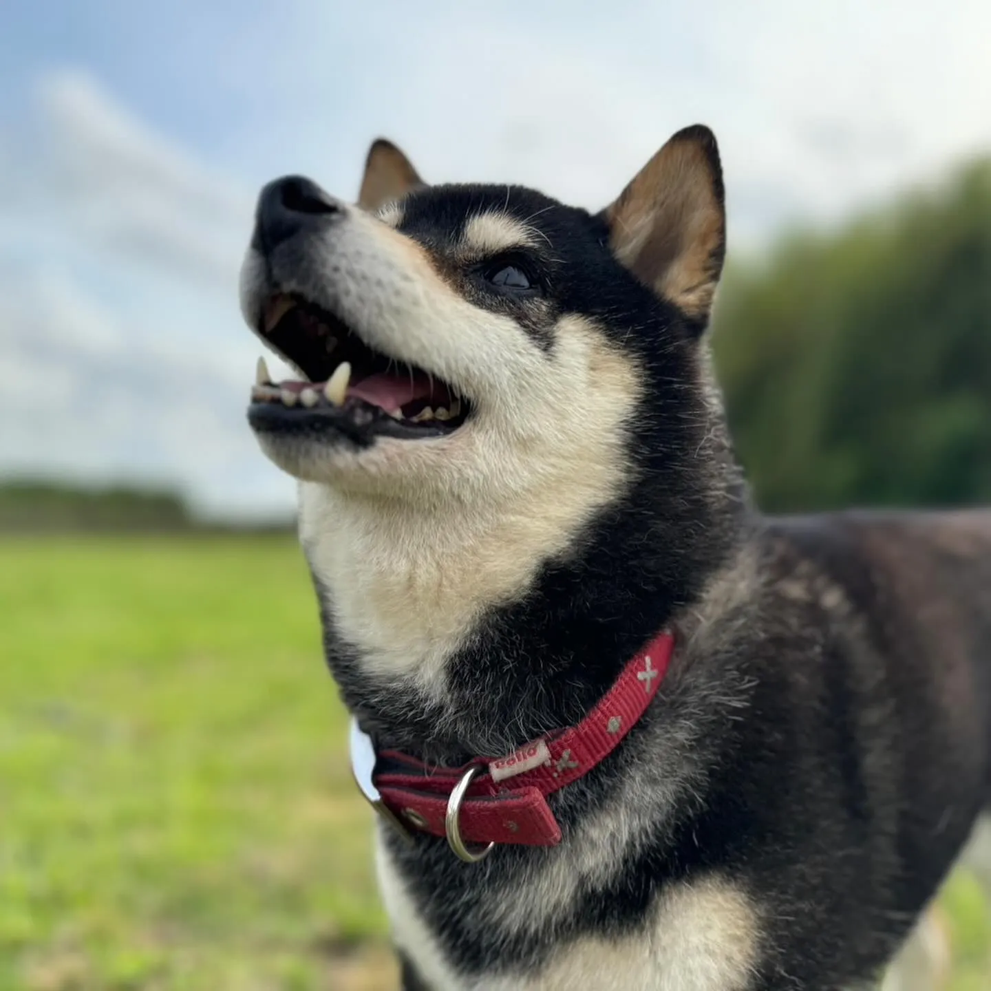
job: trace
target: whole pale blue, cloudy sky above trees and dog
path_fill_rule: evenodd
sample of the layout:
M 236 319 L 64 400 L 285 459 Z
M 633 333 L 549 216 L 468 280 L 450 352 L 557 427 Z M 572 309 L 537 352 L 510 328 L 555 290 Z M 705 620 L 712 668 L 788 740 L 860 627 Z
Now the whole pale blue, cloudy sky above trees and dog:
M 599 207 L 703 121 L 730 252 L 756 251 L 991 151 L 988 38 L 986 0 L 6 0 L 0 473 L 291 506 L 244 422 L 236 294 L 277 174 L 351 197 L 383 134 L 428 180 Z

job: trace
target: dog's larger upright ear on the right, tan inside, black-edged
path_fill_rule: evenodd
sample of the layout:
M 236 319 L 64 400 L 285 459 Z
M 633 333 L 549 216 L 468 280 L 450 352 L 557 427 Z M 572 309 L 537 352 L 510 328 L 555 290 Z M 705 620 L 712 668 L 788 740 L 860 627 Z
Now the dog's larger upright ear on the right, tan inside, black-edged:
M 716 137 L 679 131 L 603 211 L 616 258 L 693 322 L 709 321 L 725 254 Z

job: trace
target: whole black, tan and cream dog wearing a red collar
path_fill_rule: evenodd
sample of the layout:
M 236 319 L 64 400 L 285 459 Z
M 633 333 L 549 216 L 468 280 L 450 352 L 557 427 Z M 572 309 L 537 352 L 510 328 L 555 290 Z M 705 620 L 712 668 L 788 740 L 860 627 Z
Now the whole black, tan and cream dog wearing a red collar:
M 826 991 L 900 951 L 909 986 L 971 833 L 986 863 L 991 512 L 758 511 L 723 200 L 702 126 L 598 213 L 383 140 L 356 205 L 261 192 L 242 310 L 300 380 L 260 362 L 248 417 L 406 991 Z

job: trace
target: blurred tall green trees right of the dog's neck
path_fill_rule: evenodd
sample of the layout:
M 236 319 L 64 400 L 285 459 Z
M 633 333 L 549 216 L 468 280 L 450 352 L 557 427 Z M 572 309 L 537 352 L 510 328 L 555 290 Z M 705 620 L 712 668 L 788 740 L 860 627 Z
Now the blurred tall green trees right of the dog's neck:
M 730 268 L 714 327 L 762 508 L 991 503 L 991 162 Z

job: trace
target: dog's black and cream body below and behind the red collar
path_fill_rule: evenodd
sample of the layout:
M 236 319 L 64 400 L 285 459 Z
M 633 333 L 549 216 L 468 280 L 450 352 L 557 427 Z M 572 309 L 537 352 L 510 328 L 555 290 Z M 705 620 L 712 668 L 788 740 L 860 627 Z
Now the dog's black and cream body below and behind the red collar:
M 991 514 L 765 523 L 676 621 L 670 691 L 620 767 L 557 807 L 567 850 L 471 870 L 386 834 L 410 973 L 604 991 L 870 974 L 991 797 L 989 617 Z

